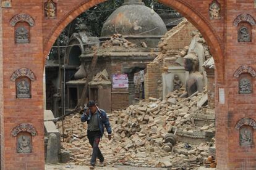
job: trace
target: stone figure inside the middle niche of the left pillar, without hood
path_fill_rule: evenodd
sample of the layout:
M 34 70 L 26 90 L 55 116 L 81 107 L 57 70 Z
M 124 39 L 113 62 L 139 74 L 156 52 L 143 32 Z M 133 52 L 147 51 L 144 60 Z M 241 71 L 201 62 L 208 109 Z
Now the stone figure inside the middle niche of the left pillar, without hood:
M 25 79 L 17 83 L 17 99 L 30 98 L 30 84 Z

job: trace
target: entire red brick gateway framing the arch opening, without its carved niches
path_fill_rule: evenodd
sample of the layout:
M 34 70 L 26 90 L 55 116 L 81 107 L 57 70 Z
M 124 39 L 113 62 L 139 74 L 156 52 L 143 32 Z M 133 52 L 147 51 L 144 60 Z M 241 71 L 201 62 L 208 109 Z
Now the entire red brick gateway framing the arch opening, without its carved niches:
M 2 169 L 44 169 L 43 148 L 43 66 L 45 59 L 61 31 L 75 17 L 104 0 L 59 0 L 57 17 L 46 19 L 43 1 L 12 1 L 12 8 L 1 9 L 0 38 L 4 47 L 0 53 L 0 114 Z M 240 14 L 256 16 L 254 1 L 218 0 L 221 4 L 220 20 L 210 20 L 208 7 L 212 0 L 160 0 L 171 6 L 203 35 L 215 59 L 216 96 L 216 156 L 218 169 L 255 169 L 256 148 L 239 145 L 239 132 L 235 129 L 239 119 L 256 119 L 256 89 L 253 94 L 239 94 L 238 81 L 233 73 L 241 65 L 256 68 L 255 26 L 252 26 L 252 42 L 237 41 L 237 26 L 234 19 Z M 30 44 L 14 44 L 14 27 L 9 20 L 16 14 L 29 14 L 35 20 L 30 28 Z M 12 73 L 27 67 L 36 75 L 32 82 L 32 99 L 15 99 L 15 84 Z M 255 78 L 253 79 L 255 84 Z M 1 88 L 2 87 L 2 88 Z M 225 103 L 218 102 L 218 89 L 224 88 Z M 32 153 L 16 153 L 16 140 L 12 129 L 20 123 L 30 123 L 38 132 L 32 139 Z M 255 141 L 255 132 L 254 132 Z

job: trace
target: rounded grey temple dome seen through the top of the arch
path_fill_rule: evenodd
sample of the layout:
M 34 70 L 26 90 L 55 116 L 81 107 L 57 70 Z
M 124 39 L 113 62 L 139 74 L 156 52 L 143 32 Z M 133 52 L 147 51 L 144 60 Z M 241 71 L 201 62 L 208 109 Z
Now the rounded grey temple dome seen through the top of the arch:
M 104 23 L 101 37 L 109 37 L 115 33 L 123 36 L 162 36 L 166 31 L 161 17 L 141 0 L 125 0 Z

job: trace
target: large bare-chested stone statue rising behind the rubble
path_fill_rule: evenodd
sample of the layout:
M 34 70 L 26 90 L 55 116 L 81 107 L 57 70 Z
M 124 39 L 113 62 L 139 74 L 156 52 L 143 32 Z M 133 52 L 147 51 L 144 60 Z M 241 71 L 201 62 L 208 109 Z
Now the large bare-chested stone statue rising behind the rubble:
M 190 51 L 184 57 L 184 67 L 189 71 L 189 77 L 186 80 L 186 91 L 188 97 L 195 92 L 203 92 L 203 75 L 198 71 L 199 60 L 195 52 Z M 186 97 L 186 96 L 181 96 Z

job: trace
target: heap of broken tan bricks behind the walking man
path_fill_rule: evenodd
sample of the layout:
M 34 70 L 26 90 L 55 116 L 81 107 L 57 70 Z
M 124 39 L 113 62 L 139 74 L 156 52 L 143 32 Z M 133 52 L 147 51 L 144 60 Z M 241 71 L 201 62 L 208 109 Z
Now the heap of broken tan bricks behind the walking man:
M 214 111 L 207 109 L 205 94 L 179 98 L 183 91 L 175 91 L 163 101 L 141 100 L 137 105 L 108 114 L 113 139 L 103 137 L 100 143 L 106 163 L 197 169 L 204 158 L 214 156 Z M 62 123 L 58 122 L 57 127 L 61 132 Z M 64 121 L 62 148 L 70 152 L 76 164 L 90 161 L 92 147 L 86 129 L 79 113 Z

